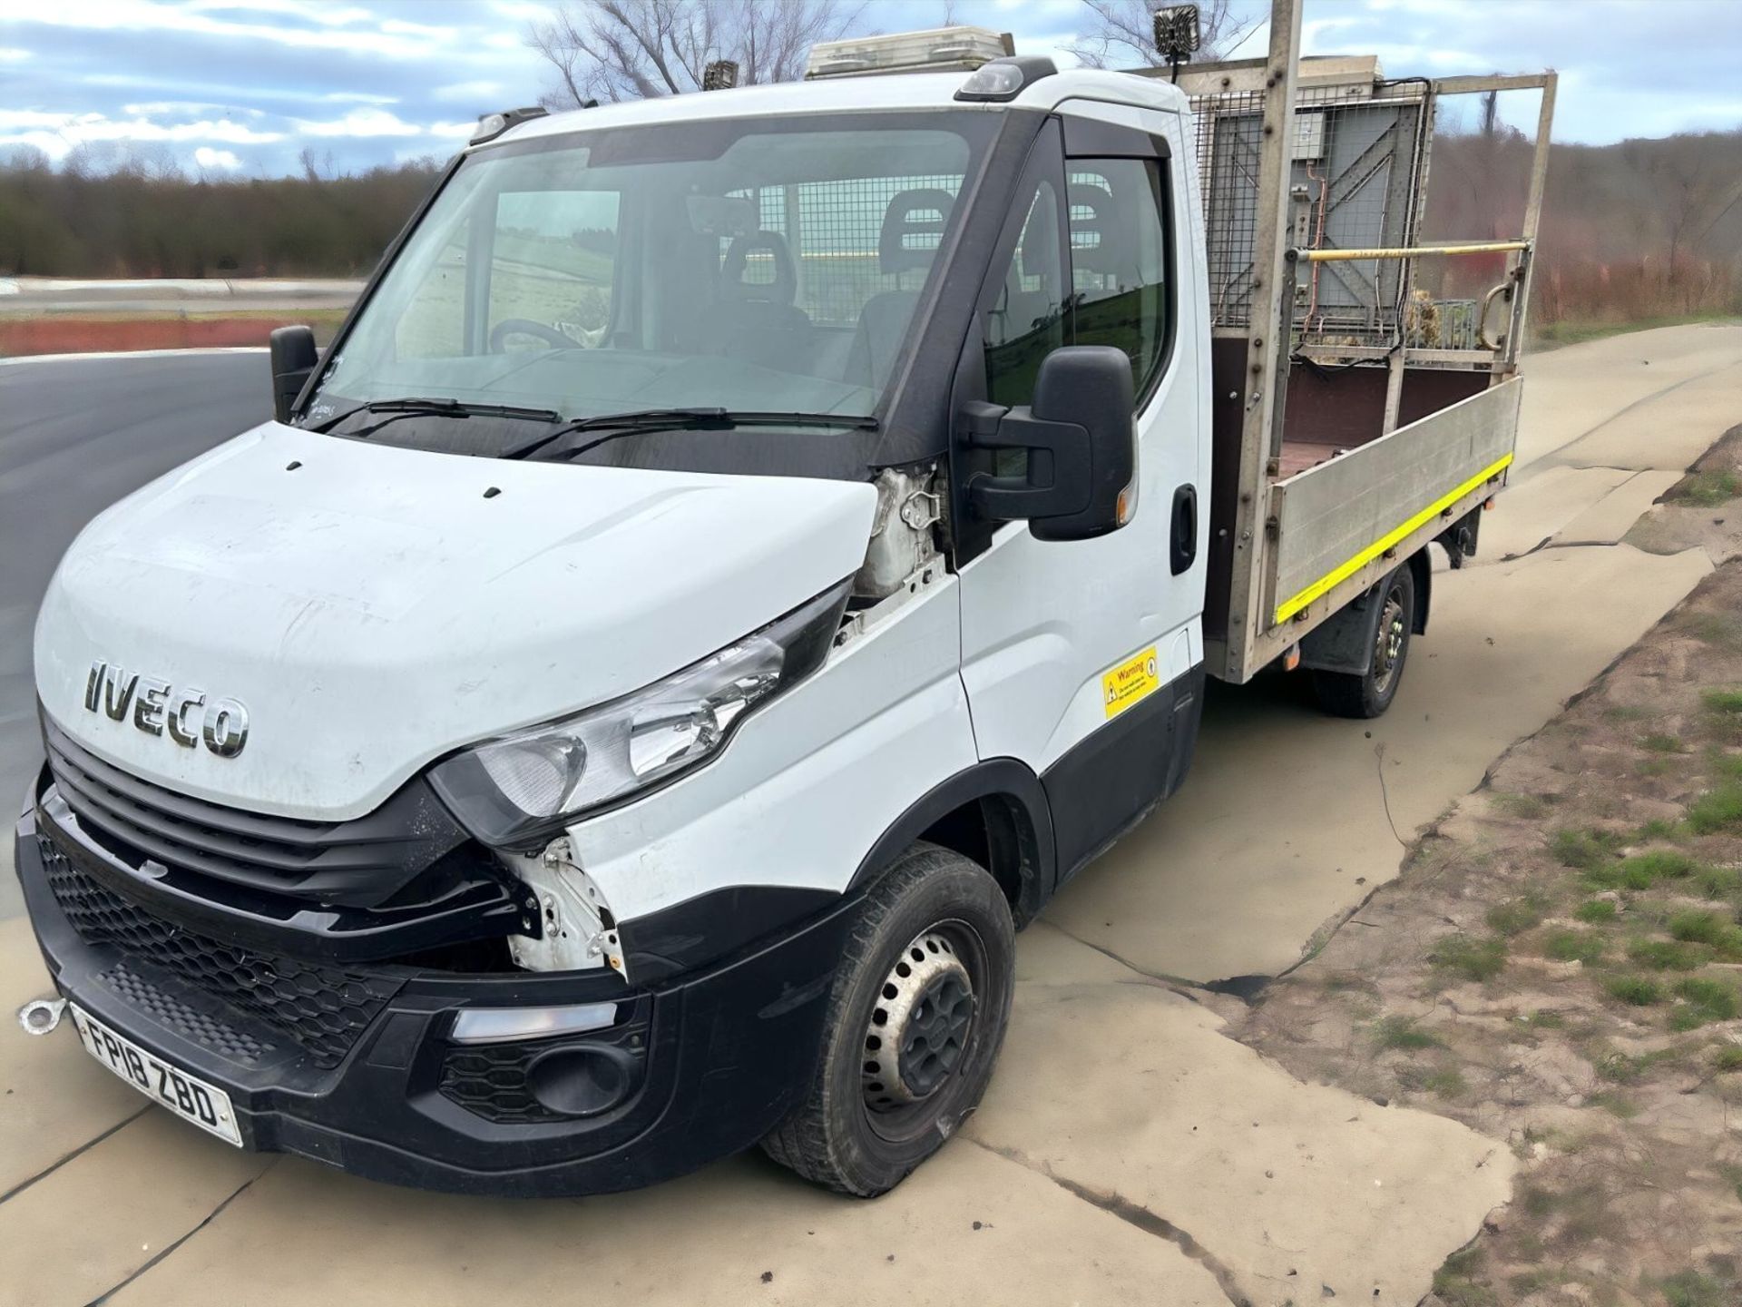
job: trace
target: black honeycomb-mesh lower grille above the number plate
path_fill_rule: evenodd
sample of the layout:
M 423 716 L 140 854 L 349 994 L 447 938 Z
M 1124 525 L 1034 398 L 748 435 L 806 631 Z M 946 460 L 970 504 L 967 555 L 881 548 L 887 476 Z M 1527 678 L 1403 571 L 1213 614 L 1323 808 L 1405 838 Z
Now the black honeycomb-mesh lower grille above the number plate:
M 383 974 L 321 967 L 209 939 L 98 884 L 47 836 L 38 836 L 37 843 L 54 901 L 61 904 L 80 939 L 87 945 L 117 948 L 127 962 L 159 967 L 228 1004 L 237 1012 L 282 1033 L 315 1067 L 338 1067 L 399 990 L 401 983 Z M 115 983 L 117 971 L 120 967 L 110 971 L 106 979 Z M 127 997 L 124 986 L 131 985 L 138 993 L 141 983 L 143 978 L 129 971 L 115 988 Z M 183 1025 L 193 1018 L 200 1021 L 209 1018 L 202 1018 L 185 1004 L 179 1006 L 183 1011 L 169 1011 L 165 1016 L 165 1009 L 153 1007 L 153 1002 L 141 1002 L 141 1007 L 165 1026 L 211 1046 L 209 1030 L 199 1026 L 206 1035 L 202 1039 Z M 247 1051 L 246 1044 L 239 1042 L 237 1047 Z M 265 1049 L 253 1056 L 260 1056 L 261 1051 Z

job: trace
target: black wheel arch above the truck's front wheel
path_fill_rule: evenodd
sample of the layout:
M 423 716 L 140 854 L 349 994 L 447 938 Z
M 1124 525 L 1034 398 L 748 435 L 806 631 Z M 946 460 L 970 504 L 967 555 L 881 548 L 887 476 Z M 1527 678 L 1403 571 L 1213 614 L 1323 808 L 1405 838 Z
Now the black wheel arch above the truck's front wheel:
M 1017 929 L 1033 920 L 1052 894 L 1052 809 L 1040 777 L 1016 758 L 974 763 L 925 791 L 871 845 L 847 892 L 869 887 L 902 850 L 922 840 L 986 868 L 1003 889 Z

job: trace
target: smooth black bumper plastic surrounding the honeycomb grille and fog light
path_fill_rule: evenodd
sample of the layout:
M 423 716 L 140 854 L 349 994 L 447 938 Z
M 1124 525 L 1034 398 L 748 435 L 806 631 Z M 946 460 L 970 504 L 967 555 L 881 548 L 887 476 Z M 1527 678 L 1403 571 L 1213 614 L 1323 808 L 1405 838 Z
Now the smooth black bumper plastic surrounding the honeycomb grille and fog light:
M 54 901 L 35 817 L 16 828 L 17 873 L 56 988 L 99 1021 L 230 1094 L 246 1147 L 291 1152 L 352 1175 L 460 1194 L 557 1197 L 638 1188 L 692 1171 L 766 1134 L 815 1072 L 827 995 L 857 899 L 704 972 L 629 986 L 592 972 L 406 972 L 336 1067 L 294 1044 L 261 1049 L 195 1037 L 188 1016 L 235 1025 L 233 1009 L 152 976 L 167 1000 L 141 1006 L 115 985 L 125 953 L 84 943 Z M 401 974 L 397 969 L 394 974 Z M 645 1072 L 599 1115 L 490 1121 L 442 1096 L 453 1016 L 469 1006 L 615 1000 L 618 1019 L 596 1040 L 645 1054 Z M 186 1011 L 185 1011 L 186 1009 Z M 157 1012 L 169 1012 L 165 1023 Z M 185 1021 L 176 1014 L 188 1016 Z M 219 1035 L 223 1032 L 218 1032 Z M 540 1049 L 542 1051 L 542 1049 Z M 89 1075 L 103 1075 L 91 1068 Z

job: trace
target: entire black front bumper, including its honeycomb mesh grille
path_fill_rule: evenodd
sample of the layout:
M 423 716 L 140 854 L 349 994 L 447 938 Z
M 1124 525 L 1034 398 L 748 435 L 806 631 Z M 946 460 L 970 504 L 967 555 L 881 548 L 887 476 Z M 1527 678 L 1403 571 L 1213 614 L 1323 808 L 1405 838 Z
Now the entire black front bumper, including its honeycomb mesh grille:
M 608 971 L 458 974 L 260 953 L 164 915 L 40 809 L 19 819 L 16 856 L 59 992 L 225 1089 L 246 1147 L 463 1194 L 636 1188 L 760 1140 L 815 1070 L 852 908 L 843 899 L 725 962 L 631 988 Z M 463 1007 L 594 1002 L 617 1004 L 610 1028 L 449 1040 Z M 578 1079 L 550 1093 L 552 1068 Z M 599 1093 L 617 1101 L 573 1114 Z

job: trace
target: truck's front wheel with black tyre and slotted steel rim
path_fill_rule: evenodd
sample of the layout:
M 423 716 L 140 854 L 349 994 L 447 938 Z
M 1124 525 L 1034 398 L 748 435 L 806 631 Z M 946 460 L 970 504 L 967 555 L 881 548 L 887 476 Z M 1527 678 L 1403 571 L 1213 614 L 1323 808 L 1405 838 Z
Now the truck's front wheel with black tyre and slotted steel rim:
M 843 1194 L 894 1188 L 979 1103 L 1014 979 L 998 882 L 960 854 L 913 845 L 859 908 L 817 1072 L 763 1150 Z

